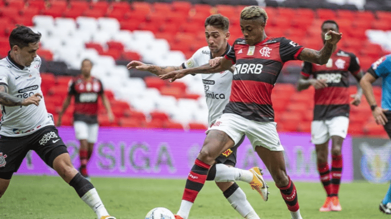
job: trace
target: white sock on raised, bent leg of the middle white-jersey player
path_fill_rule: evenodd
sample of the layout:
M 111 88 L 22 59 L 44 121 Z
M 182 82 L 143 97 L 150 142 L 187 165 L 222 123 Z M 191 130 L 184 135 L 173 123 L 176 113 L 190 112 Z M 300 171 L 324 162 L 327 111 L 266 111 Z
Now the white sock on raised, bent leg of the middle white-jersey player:
M 249 183 L 253 180 L 253 173 L 249 170 L 242 170 L 236 167 L 230 167 L 225 164 L 216 164 L 216 182 L 245 181 Z

